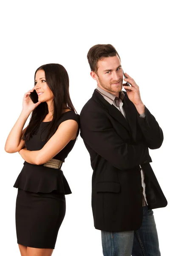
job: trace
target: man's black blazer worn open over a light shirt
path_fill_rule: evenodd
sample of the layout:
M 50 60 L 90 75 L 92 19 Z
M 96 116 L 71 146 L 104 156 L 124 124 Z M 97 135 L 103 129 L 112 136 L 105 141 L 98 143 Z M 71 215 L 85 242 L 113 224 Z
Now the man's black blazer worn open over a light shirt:
M 80 113 L 80 135 L 91 157 L 94 226 L 105 231 L 137 230 L 142 225 L 144 171 L 149 209 L 165 207 L 167 200 L 150 166 L 148 148 L 159 148 L 163 133 L 145 107 L 142 119 L 127 93 L 126 119 L 94 90 Z

